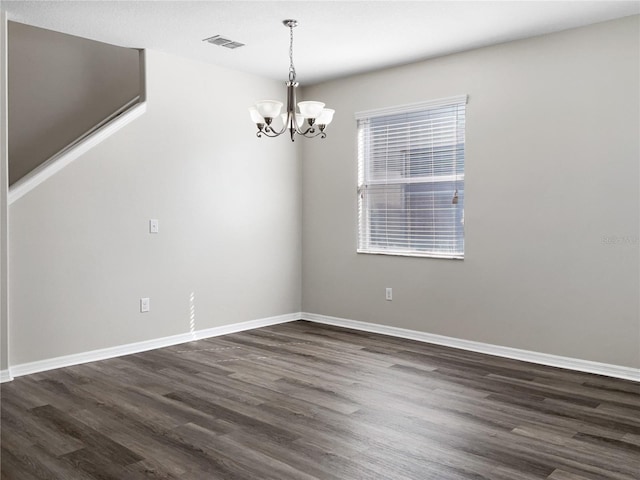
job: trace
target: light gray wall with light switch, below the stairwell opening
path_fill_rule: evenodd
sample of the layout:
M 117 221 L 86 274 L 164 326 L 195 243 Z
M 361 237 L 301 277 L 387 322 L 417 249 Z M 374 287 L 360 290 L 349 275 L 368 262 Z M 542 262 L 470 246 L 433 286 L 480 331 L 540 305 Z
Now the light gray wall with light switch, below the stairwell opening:
M 282 83 L 147 62 L 147 112 L 10 206 L 11 365 L 189 332 L 192 293 L 197 330 L 300 311 L 298 152 L 247 112 Z

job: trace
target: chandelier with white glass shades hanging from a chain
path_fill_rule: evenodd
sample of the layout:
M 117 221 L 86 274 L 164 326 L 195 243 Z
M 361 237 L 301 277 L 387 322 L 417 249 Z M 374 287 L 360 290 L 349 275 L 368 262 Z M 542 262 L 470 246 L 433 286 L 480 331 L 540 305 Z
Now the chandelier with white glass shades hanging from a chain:
M 324 108 L 322 102 L 299 102 L 296 112 L 296 68 L 293 66 L 293 27 L 298 25 L 297 20 L 283 20 L 285 27 L 289 27 L 289 81 L 287 82 L 287 110 L 280 114 L 282 102 L 277 100 L 262 100 L 253 107 L 249 107 L 251 120 L 258 127 L 256 135 L 262 137 L 278 137 L 287 130 L 291 135 L 291 141 L 295 140 L 295 135 L 313 138 L 320 136 L 325 138 L 324 133 L 327 125 L 333 120 L 335 110 Z M 280 117 L 282 127 L 274 126 L 274 119 Z

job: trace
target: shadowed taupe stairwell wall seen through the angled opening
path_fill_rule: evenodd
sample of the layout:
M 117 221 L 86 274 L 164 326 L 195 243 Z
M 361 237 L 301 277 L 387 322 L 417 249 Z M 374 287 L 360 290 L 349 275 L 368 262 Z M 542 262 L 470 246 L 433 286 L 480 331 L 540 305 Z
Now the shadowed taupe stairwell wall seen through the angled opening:
M 9 22 L 9 184 L 141 94 L 139 52 Z

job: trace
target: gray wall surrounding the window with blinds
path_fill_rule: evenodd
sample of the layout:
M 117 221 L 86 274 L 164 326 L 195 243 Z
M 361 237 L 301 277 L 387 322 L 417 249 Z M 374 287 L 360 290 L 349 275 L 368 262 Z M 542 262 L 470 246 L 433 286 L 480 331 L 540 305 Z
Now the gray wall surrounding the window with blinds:
M 639 32 L 629 17 L 305 89 L 337 114 L 304 144 L 303 310 L 639 367 Z M 458 94 L 465 260 L 356 254 L 354 112 Z

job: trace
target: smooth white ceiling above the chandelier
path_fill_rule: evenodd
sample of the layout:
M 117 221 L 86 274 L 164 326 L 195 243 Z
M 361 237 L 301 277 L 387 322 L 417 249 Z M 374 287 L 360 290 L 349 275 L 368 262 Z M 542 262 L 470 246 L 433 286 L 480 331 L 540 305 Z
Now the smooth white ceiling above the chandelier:
M 301 84 L 640 13 L 639 1 L 2 1 L 13 21 Z M 230 50 L 203 42 L 221 34 Z

